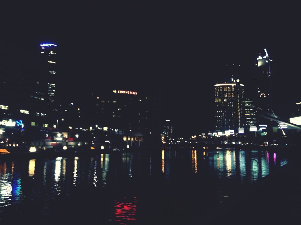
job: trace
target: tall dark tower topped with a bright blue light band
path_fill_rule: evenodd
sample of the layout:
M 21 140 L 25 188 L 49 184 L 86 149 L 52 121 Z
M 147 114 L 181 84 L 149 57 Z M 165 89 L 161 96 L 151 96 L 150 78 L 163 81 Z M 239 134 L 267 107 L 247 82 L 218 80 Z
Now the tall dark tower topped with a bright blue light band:
M 57 74 L 57 45 L 56 44 L 40 44 L 41 55 L 48 62 L 49 77 L 54 80 L 53 77 Z M 55 98 L 55 83 L 48 80 L 47 90 L 47 102 L 48 106 L 53 104 Z

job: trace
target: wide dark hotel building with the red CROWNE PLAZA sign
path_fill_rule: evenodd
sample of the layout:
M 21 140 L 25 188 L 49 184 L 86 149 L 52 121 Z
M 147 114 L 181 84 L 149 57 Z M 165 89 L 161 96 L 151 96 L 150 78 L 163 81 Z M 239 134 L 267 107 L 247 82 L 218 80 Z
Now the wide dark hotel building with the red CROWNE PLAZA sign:
M 85 99 L 78 126 L 97 132 L 95 142 L 144 146 L 159 139 L 157 99 L 150 92 L 106 88 Z

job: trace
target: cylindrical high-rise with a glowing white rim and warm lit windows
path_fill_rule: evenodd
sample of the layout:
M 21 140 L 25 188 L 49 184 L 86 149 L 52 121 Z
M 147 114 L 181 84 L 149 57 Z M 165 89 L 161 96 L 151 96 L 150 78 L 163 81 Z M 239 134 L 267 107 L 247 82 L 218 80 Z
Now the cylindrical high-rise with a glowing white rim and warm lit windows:
M 244 85 L 239 79 L 232 83 L 219 83 L 215 86 L 216 131 L 234 130 L 245 127 Z

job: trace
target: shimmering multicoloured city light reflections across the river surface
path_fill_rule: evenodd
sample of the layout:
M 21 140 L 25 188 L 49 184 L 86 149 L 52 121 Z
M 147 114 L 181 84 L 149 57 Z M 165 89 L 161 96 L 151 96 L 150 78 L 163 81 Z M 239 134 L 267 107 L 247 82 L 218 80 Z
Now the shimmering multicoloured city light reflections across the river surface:
M 136 196 L 127 196 L 124 192 L 126 182 L 139 184 L 140 180 L 142 183 L 155 178 L 160 186 L 172 179 L 192 176 L 190 179 L 199 179 L 198 185 L 203 187 L 202 176 L 206 174 L 244 186 L 286 163 L 287 159 L 278 153 L 234 149 L 163 149 L 160 152 L 99 154 L 92 158 L 0 161 L 0 213 L 8 206 L 21 210 L 19 204 L 26 204 L 24 199 L 29 197 L 33 203 L 42 205 L 41 213 L 48 214 L 50 200 L 67 195 L 72 187 L 92 187 L 97 191 L 110 187 L 116 193 L 111 202 L 115 209 L 111 221 L 126 224 L 136 220 L 139 207 Z M 227 186 L 226 182 L 220 185 L 216 194 L 231 196 L 228 189 L 232 186 Z M 222 202 L 220 198 L 217 201 Z

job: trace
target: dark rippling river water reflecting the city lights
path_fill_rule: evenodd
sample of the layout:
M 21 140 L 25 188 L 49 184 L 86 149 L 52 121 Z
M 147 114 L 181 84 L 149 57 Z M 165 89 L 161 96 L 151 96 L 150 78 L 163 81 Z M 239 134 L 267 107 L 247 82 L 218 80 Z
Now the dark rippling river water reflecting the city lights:
M 274 152 L 207 148 L 0 160 L 0 219 L 186 224 L 286 163 Z

